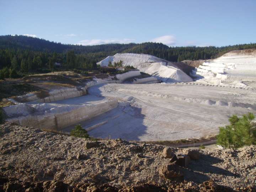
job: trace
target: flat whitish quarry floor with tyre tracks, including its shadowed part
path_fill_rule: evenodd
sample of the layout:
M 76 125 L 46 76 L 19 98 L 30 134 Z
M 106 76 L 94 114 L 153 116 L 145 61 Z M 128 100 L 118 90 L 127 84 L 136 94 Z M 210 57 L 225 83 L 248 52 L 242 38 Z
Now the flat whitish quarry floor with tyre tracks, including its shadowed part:
M 81 122 L 91 137 L 178 140 L 214 135 L 232 114 L 256 113 L 256 91 L 187 84 L 101 84 L 88 90 L 86 102 L 117 98 L 118 107 Z M 58 103 L 77 103 L 72 98 Z M 82 101 L 81 101 L 82 102 Z M 93 103 L 94 103 L 93 102 Z M 64 131 L 70 131 L 69 126 Z

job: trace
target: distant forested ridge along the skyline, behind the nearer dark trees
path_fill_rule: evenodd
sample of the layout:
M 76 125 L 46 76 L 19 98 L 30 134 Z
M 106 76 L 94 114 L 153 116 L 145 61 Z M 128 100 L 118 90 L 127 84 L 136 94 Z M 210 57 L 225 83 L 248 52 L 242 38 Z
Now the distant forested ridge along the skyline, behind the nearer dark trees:
M 0 49 L 27 49 L 36 52 L 87 54 L 89 58 L 100 60 L 116 53 L 144 53 L 169 61 L 211 59 L 230 50 L 256 48 L 256 43 L 239 44 L 225 47 L 168 47 L 162 43 L 129 43 L 80 46 L 50 42 L 44 39 L 27 36 L 0 36 Z

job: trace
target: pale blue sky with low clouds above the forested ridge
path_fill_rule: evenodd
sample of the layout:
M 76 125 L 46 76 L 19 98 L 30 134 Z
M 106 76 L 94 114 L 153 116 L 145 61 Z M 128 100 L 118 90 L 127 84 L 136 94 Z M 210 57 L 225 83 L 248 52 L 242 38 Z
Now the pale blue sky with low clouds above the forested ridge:
M 70 44 L 256 42 L 256 0 L 0 0 L 0 34 Z

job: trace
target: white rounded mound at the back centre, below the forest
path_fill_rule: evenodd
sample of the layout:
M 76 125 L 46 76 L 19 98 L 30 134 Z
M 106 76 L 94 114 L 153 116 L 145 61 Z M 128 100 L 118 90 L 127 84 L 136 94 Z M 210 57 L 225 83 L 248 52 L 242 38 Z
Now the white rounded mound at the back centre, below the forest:
M 108 56 L 98 62 L 101 66 L 108 66 L 108 63 L 123 61 L 123 65 L 131 65 L 144 73 L 155 76 L 163 82 L 188 82 L 193 81 L 190 76 L 184 73 L 177 65 L 167 60 L 146 54 L 117 53 Z

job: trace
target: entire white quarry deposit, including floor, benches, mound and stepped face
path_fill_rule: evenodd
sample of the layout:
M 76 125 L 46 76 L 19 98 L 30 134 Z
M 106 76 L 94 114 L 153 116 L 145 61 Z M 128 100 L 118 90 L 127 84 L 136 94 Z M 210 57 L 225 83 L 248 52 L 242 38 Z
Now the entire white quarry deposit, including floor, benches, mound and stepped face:
M 123 66 L 136 69 L 95 75 L 73 87 L 45 87 L 47 93 L 40 96 L 18 96 L 11 99 L 15 105 L 4 108 L 6 120 L 65 132 L 81 124 L 91 137 L 103 139 L 161 141 L 215 135 L 232 114 L 256 113 L 255 55 L 255 50 L 232 51 L 187 71 L 182 62 L 116 54 L 97 64 L 107 67 L 122 60 Z M 44 81 L 30 78 L 37 84 Z

